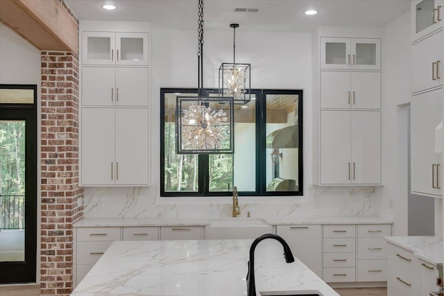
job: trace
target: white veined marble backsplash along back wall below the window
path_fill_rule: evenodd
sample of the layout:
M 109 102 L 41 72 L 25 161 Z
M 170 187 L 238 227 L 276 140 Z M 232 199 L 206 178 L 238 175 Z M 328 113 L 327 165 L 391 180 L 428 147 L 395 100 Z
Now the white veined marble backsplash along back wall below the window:
M 87 187 L 84 216 L 90 218 L 225 218 L 232 199 L 159 198 L 153 187 Z M 240 216 L 373 216 L 378 215 L 382 188 L 377 186 L 311 186 L 305 196 L 239 197 Z

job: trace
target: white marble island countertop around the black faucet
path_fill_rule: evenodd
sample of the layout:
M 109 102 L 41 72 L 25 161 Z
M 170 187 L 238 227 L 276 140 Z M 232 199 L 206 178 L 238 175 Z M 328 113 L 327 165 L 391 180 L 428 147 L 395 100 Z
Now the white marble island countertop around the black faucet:
M 71 295 L 244 296 L 252 242 L 115 241 Z M 282 253 L 272 239 L 257 245 L 257 295 L 318 290 L 339 296 L 299 259 L 285 263 Z

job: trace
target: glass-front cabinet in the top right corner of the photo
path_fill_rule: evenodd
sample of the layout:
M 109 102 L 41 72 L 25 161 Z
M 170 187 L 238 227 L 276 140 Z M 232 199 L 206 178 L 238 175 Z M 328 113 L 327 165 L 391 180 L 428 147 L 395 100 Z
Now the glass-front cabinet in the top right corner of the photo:
M 411 6 L 411 38 L 416 41 L 443 28 L 444 0 L 413 0 Z

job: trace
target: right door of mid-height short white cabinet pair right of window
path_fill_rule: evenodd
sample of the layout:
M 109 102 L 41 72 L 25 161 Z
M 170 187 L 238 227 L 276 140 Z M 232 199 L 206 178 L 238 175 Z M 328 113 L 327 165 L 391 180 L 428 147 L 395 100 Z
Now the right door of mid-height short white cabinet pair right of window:
M 352 72 L 350 105 L 355 109 L 381 109 L 381 72 Z

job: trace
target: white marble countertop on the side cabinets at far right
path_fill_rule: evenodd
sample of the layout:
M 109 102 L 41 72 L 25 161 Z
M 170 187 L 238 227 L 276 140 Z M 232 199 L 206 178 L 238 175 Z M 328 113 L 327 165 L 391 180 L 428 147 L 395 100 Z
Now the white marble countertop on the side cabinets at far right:
M 432 264 L 443 263 L 443 240 L 436 236 L 386 236 L 386 241 Z

